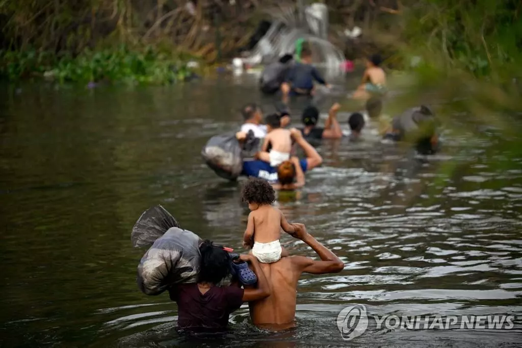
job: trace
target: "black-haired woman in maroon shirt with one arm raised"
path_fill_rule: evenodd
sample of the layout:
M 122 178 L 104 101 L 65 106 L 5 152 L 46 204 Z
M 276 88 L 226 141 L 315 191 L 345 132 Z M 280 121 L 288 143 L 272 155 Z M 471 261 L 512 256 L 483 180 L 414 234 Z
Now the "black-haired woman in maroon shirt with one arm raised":
M 221 247 L 205 240 L 199 247 L 201 264 L 198 282 L 177 285 L 169 289 L 170 298 L 177 303 L 177 327 L 188 331 L 224 331 L 230 314 L 244 302 L 266 298 L 270 290 L 259 267 L 251 255 L 241 255 L 250 262 L 257 276 L 257 288 L 243 289 L 238 284 L 219 286 L 230 275 L 230 256 Z

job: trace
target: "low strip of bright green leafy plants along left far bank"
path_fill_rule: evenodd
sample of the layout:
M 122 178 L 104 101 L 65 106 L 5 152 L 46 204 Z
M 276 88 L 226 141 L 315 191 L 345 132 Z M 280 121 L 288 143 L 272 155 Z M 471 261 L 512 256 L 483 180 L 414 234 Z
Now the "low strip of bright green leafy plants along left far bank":
M 8 80 L 43 77 L 60 83 L 170 84 L 193 76 L 187 62 L 152 48 L 137 51 L 125 46 L 116 50 L 85 50 L 75 57 L 37 50 L 2 51 L 0 76 Z

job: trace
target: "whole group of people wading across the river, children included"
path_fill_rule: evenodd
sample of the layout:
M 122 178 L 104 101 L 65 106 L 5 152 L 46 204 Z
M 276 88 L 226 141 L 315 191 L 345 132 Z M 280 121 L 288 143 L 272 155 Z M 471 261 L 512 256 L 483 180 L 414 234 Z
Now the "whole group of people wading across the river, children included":
M 328 86 L 310 64 L 310 58 L 310 51 L 303 49 L 301 62 L 289 67 L 287 64 L 292 56 L 281 57 L 271 66 L 271 77 L 267 78 L 270 74 L 264 74 L 262 91 L 267 94 L 281 91 L 282 100 L 286 102 L 289 96 L 313 95 L 313 80 Z M 378 55 L 367 60 L 362 84 L 353 97 L 366 99 L 365 109 L 369 119 L 379 121 L 379 131 L 384 138 L 400 140 L 411 129 L 405 124 L 419 125 L 423 120 L 432 118 L 433 113 L 430 108 L 422 106 L 408 113 L 409 116 L 399 115 L 388 123 L 379 119 L 382 113 L 381 97 L 386 92 L 386 75 L 380 64 Z M 248 103 L 242 108 L 244 123 L 236 137 L 241 142 L 250 134 L 262 140 L 263 144 L 254 159 L 244 161 L 242 171 L 243 176 L 250 177 L 243 188 L 243 200 L 251 210 L 243 246 L 250 252 L 234 259 L 226 248 L 216 246 L 209 240 L 203 242 L 200 246 L 198 282 L 170 289 L 170 297 L 179 307 L 179 328 L 189 332 L 223 331 L 230 314 L 243 303 L 248 303 L 252 322 L 258 328 L 276 331 L 292 328 L 295 326 L 296 292 L 301 274 L 338 273 L 343 270 L 343 262 L 310 235 L 303 224 L 287 222 L 284 215 L 271 205 L 276 199 L 275 190 L 302 187 L 305 172 L 322 164 L 321 155 L 309 142 L 311 139 L 343 137 L 337 120 L 339 109 L 338 103 L 331 106 L 324 127 L 319 127 L 319 110 L 310 105 L 302 112 L 303 126 L 287 129 L 291 115 L 286 111 L 264 118 L 261 108 L 255 103 Z M 366 122 L 361 112 L 350 115 L 348 125 L 352 140 L 359 138 Z M 428 143 L 436 144 L 435 133 L 428 136 Z M 293 155 L 294 144 L 303 149 L 305 158 Z M 290 255 L 281 247 L 281 229 L 310 246 L 319 260 Z M 221 285 L 230 275 L 233 275 L 230 285 Z M 251 282 L 252 279 L 255 282 Z

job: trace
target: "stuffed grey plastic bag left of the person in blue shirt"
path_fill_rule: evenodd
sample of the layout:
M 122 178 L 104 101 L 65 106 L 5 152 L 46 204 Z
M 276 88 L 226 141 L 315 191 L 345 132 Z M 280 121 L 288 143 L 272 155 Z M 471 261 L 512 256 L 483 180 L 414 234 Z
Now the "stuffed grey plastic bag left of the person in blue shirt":
M 221 178 L 235 180 L 243 171 L 242 148 L 235 132 L 211 137 L 201 150 L 201 156 Z

